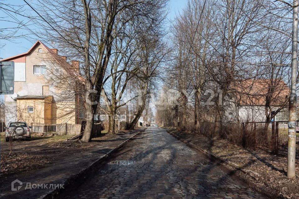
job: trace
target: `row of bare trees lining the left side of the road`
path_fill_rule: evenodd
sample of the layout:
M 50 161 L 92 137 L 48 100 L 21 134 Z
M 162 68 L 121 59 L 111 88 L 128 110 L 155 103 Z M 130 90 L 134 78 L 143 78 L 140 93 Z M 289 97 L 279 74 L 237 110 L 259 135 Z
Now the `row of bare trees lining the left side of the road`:
M 94 121 L 102 112 L 108 115 L 108 132 L 112 133 L 118 130 L 121 107 L 133 104 L 130 129 L 143 114 L 149 118 L 150 94 L 169 52 L 162 39 L 167 0 L 46 0 L 28 4 L 40 15 L 34 19 L 39 37 L 79 61 L 78 72 L 57 58 L 47 60 L 59 62 L 53 66 L 65 65 L 59 74 L 53 70 L 48 80 L 69 90 L 56 94 L 63 101 L 68 95 L 75 96 L 84 109 L 82 141 L 90 140 Z

